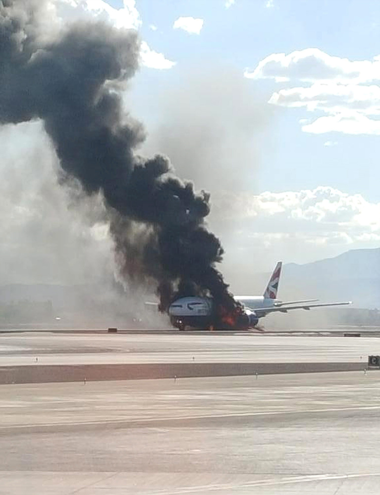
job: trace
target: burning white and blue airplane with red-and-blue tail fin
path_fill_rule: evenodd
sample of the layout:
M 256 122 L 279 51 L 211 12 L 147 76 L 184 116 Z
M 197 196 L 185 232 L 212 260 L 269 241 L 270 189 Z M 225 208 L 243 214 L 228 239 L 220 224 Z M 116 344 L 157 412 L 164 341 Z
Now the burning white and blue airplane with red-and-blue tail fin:
M 243 306 L 243 312 L 236 324 L 238 329 L 257 329 L 259 319 L 276 311 L 287 313 L 291 309 L 306 309 L 326 306 L 342 306 L 346 302 L 317 302 L 318 299 L 281 301 L 277 299 L 278 284 L 282 262 L 278 261 L 262 296 L 235 296 L 234 299 Z M 187 326 L 192 328 L 213 328 L 214 315 L 212 297 L 180 297 L 173 301 L 168 309 L 171 324 L 179 330 Z M 235 328 L 234 328 L 235 329 Z

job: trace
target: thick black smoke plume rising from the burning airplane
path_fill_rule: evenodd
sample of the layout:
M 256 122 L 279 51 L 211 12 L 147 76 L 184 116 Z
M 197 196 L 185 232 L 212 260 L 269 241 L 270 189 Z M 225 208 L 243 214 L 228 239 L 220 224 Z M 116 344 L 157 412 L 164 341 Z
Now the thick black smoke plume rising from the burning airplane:
M 44 36 L 45 6 L 0 1 L 0 123 L 44 122 L 61 180 L 103 195 L 121 274 L 154 282 L 163 311 L 178 295 L 212 295 L 233 311 L 215 267 L 223 249 L 205 226 L 209 195 L 175 177 L 165 156 L 136 153 L 144 130 L 117 92 L 138 68 L 136 32 L 81 22 Z

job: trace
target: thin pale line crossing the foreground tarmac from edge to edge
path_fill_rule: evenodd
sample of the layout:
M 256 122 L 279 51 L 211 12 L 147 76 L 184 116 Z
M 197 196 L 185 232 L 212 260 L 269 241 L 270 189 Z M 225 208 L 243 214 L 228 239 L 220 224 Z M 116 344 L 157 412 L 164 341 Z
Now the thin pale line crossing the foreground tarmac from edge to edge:
M 111 419 L 111 420 L 99 420 L 99 421 L 81 421 L 72 423 L 41 423 L 41 424 L 27 424 L 27 425 L 9 425 L 0 426 L 1 431 L 20 430 L 20 429 L 42 429 L 53 427 L 73 427 L 73 426 L 95 426 L 95 425 L 111 425 L 111 424 L 144 424 L 144 423 L 156 423 L 165 421 L 186 421 L 196 419 L 217 419 L 217 418 L 233 418 L 233 417 L 253 417 L 253 416 L 270 416 L 281 414 L 307 414 L 307 413 L 323 413 L 323 412 L 339 412 L 339 411 L 356 411 L 356 410 L 376 410 L 380 409 L 380 405 L 373 406 L 351 406 L 351 407 L 330 407 L 328 409 L 285 409 L 283 411 L 260 411 L 260 412 L 236 412 L 226 414 L 204 414 L 196 416 L 170 416 L 161 418 L 145 418 L 145 419 Z

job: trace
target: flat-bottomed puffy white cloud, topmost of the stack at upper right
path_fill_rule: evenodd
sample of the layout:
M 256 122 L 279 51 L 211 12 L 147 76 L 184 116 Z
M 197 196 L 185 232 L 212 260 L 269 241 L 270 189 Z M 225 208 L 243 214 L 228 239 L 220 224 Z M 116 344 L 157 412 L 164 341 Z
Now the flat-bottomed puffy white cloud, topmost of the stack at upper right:
M 298 79 L 306 82 L 368 83 L 380 80 L 380 55 L 372 60 L 349 60 L 328 55 L 318 48 L 306 48 L 288 55 L 272 53 L 254 70 L 246 69 L 244 75 L 278 82 Z

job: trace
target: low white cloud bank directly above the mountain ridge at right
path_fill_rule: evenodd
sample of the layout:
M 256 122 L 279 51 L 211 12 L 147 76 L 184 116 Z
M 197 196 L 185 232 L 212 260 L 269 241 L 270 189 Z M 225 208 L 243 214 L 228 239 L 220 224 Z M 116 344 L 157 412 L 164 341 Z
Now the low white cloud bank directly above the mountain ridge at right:
M 380 241 L 380 203 L 371 203 L 360 194 L 319 186 L 256 196 L 225 193 L 214 198 L 216 205 L 221 201 L 226 221 L 233 218 L 248 236 L 298 236 L 323 244 Z

